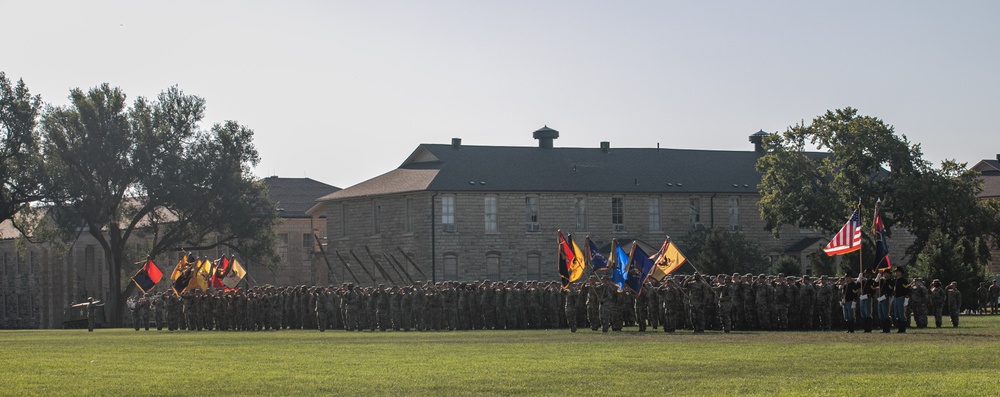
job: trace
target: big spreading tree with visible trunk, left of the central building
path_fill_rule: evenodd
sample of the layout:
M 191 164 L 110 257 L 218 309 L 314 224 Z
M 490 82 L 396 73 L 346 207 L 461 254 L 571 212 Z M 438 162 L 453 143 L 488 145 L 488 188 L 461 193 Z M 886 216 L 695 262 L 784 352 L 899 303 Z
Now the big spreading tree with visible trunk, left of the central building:
M 128 241 L 148 256 L 226 246 L 275 261 L 277 214 L 263 183 L 253 131 L 233 121 L 200 128 L 205 101 L 170 87 L 156 100 L 103 84 L 70 91 L 71 105 L 47 109 L 41 131 L 48 219 L 66 236 L 93 236 L 106 259 L 112 324 L 120 324 L 134 270 Z

